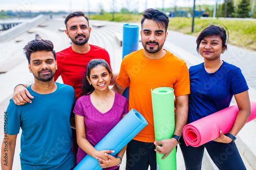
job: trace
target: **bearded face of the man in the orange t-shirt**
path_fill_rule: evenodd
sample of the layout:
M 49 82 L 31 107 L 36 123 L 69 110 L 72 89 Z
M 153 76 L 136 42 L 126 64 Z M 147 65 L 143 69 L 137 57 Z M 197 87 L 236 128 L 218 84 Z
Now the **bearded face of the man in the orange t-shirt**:
M 145 19 L 142 24 L 141 40 L 147 53 L 157 53 L 162 50 L 167 32 L 162 25 L 152 19 Z

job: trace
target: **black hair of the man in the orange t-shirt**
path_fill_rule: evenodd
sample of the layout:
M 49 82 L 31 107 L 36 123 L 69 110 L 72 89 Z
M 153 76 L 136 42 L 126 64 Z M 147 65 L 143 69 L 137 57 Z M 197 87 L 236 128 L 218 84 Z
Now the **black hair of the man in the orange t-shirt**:
M 169 25 L 169 18 L 165 13 L 156 9 L 149 8 L 143 12 L 143 18 L 141 19 L 141 27 L 145 19 L 154 20 L 158 26 L 161 25 L 165 28 L 165 32 L 167 31 Z

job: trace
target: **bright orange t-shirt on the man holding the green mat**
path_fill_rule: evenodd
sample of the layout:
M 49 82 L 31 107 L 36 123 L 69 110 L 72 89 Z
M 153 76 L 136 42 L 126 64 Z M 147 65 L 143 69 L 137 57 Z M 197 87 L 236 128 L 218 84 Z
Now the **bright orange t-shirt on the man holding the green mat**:
M 116 82 L 130 86 L 129 110 L 140 112 L 148 123 L 134 140 L 154 142 L 151 89 L 171 87 L 175 96 L 189 94 L 189 74 L 186 63 L 172 53 L 166 51 L 165 56 L 153 60 L 145 57 L 143 50 L 124 57 Z

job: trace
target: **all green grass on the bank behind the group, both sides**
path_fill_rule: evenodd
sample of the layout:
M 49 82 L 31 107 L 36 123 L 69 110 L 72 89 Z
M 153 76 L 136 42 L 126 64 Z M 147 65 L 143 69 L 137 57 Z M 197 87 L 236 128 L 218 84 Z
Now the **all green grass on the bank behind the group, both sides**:
M 140 22 L 142 17 L 141 15 L 120 13 L 115 13 L 114 16 L 114 21 L 116 22 Z M 104 13 L 104 15 L 91 15 L 90 19 L 112 21 L 112 14 Z M 214 25 L 224 25 L 228 29 L 228 44 L 256 51 L 256 21 L 195 18 L 194 33 L 191 33 L 191 18 L 174 17 L 170 18 L 168 30 L 198 36 L 210 23 Z

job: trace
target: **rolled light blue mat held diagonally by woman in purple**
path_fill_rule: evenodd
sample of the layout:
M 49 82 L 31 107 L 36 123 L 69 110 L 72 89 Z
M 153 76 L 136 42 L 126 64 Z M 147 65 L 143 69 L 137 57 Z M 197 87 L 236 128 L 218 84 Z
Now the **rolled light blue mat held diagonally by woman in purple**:
M 96 150 L 113 150 L 110 155 L 115 156 L 129 143 L 145 126 L 146 119 L 135 109 L 127 113 L 120 122 L 99 141 Z M 84 157 L 74 170 L 100 170 L 99 161 L 90 155 Z

